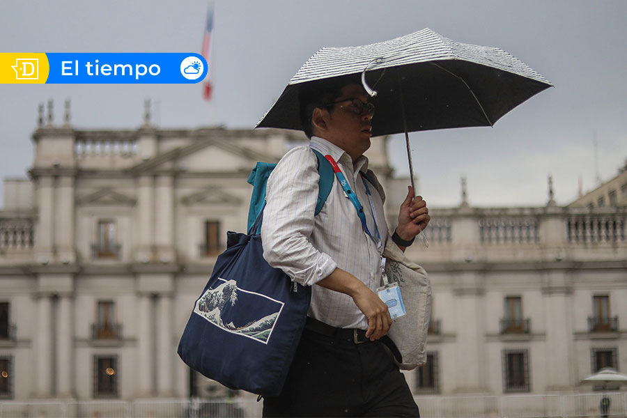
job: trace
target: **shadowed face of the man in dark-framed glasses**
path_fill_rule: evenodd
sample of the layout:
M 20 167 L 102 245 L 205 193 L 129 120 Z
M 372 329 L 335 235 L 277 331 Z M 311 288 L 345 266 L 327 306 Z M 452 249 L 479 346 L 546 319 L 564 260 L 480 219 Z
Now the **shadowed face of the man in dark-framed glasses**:
M 341 90 L 335 104 L 330 107 L 325 139 L 346 150 L 355 160 L 370 148 L 372 115 L 354 99 L 368 102 L 368 95 L 359 84 L 348 84 Z M 357 106 L 355 105 L 357 104 Z M 359 107 L 363 107 L 359 111 Z

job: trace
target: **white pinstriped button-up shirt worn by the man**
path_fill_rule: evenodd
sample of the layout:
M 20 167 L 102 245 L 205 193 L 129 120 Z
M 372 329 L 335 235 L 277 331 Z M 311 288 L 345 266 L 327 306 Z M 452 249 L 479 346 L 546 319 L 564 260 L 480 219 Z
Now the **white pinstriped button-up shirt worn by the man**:
M 376 212 L 373 217 L 366 188 L 359 176 L 359 171 L 366 172 L 368 159 L 362 156 L 353 164 L 339 146 L 318 137 L 311 138 L 309 145 L 334 158 L 362 203 L 369 231 L 376 239 L 378 227 L 385 246 L 385 196 L 382 190 L 378 193 L 377 187 L 369 184 Z M 305 286 L 316 284 L 337 267 L 376 291 L 381 281 L 382 248 L 378 248 L 375 240 L 362 228 L 355 206 L 336 178 L 325 205 L 314 217 L 320 178 L 317 161 L 308 146 L 300 146 L 289 150 L 272 171 L 261 227 L 263 257 L 272 267 L 281 268 L 293 281 Z M 323 286 L 311 288 L 309 316 L 335 327 L 368 328 L 366 317 L 352 297 Z

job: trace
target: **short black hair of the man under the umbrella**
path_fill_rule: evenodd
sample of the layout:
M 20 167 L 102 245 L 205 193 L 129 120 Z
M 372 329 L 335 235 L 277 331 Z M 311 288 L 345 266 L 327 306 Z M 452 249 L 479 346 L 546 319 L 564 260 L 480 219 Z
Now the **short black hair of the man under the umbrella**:
M 300 88 L 298 95 L 300 123 L 307 138 L 311 138 L 314 134 L 314 123 L 311 121 L 314 109 L 316 107 L 321 109 L 328 107 L 329 103 L 340 97 L 342 88 L 348 84 L 361 84 L 359 75 L 324 79 L 318 82 L 307 83 Z

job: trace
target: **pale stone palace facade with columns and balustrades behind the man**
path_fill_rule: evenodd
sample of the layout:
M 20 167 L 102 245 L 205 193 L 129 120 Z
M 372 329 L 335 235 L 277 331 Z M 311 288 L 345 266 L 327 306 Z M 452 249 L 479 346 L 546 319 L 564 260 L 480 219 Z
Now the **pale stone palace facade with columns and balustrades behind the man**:
M 219 392 L 178 339 L 226 231 L 245 229 L 254 163 L 304 136 L 157 129 L 148 114 L 77 130 L 67 109 L 63 125 L 42 113 L 29 179 L 5 180 L 0 209 L 0 400 Z M 368 155 L 393 226 L 407 180 L 386 138 Z M 601 207 L 474 208 L 463 192 L 431 208 L 431 246 L 408 250 L 433 286 L 415 394 L 578 393 L 604 366 L 627 369 L 627 172 L 614 183 Z

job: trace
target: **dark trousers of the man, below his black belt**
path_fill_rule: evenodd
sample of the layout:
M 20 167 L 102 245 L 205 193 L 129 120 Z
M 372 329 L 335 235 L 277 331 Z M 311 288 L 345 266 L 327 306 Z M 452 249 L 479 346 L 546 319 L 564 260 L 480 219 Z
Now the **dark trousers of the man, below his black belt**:
M 264 417 L 419 417 L 391 353 L 305 328 L 283 392 L 263 400 Z

